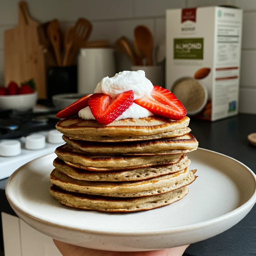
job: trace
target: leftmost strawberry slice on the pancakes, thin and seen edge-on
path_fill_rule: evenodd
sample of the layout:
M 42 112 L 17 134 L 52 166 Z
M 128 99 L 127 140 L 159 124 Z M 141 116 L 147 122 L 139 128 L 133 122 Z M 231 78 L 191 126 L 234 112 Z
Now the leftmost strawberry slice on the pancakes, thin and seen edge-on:
M 88 94 L 82 97 L 81 99 L 75 101 L 74 103 L 70 104 L 65 109 L 62 109 L 60 112 L 58 112 L 56 116 L 58 118 L 69 118 L 78 115 L 78 112 L 81 109 L 86 108 L 88 106 L 88 100 L 91 95 L 92 94 Z

